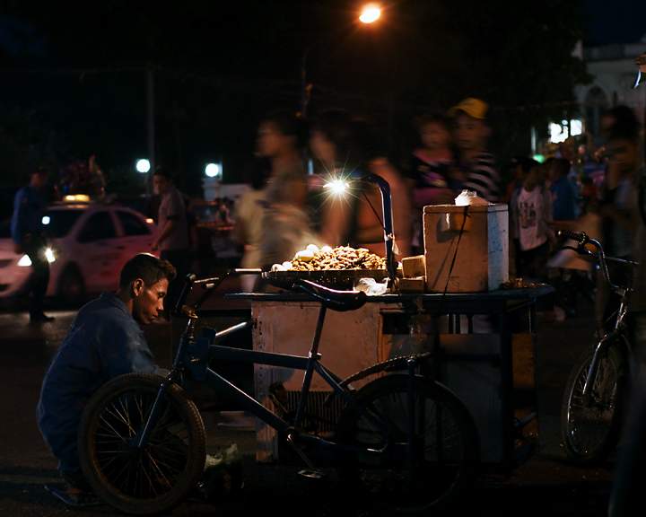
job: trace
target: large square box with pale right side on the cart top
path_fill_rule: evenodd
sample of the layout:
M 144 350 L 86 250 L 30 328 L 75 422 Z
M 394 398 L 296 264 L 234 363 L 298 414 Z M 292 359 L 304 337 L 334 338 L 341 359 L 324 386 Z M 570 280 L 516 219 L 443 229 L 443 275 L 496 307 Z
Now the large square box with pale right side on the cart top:
M 471 205 L 462 238 L 464 206 L 423 208 L 426 291 L 478 293 L 494 291 L 509 278 L 509 214 L 507 205 Z M 458 247 L 455 265 L 447 278 Z

